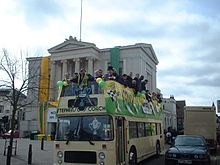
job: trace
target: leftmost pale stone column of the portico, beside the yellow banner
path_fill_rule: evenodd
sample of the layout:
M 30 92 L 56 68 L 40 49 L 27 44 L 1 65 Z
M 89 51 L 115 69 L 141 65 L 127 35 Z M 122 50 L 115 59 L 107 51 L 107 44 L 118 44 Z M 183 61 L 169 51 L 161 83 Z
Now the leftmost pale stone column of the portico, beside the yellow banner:
M 49 88 L 49 98 L 55 98 L 55 83 L 56 83 L 56 62 L 51 61 L 51 70 L 50 70 L 50 88 Z

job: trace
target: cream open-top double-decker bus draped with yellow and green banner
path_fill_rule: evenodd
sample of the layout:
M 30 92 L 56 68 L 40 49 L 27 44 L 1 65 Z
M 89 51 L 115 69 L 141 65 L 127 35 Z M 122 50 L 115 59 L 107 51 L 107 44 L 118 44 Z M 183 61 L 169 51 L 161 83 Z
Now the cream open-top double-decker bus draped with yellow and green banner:
M 162 107 L 116 81 L 102 90 L 69 84 L 57 107 L 55 165 L 135 165 L 163 147 Z

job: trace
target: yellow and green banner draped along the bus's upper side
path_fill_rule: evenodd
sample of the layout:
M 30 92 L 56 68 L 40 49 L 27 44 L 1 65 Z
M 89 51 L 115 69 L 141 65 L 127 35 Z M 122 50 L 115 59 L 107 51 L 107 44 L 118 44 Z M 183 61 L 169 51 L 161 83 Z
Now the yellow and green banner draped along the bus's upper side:
M 106 81 L 104 88 L 106 111 L 135 117 L 162 118 L 162 105 L 157 94 L 147 99 L 146 93 L 134 92 L 115 81 Z

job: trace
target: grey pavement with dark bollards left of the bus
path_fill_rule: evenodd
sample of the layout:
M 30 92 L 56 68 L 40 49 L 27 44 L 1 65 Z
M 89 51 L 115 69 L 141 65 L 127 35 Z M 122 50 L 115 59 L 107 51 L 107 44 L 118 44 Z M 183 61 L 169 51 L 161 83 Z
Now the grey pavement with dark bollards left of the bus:
M 53 141 L 44 142 L 41 150 L 41 141 L 30 139 L 17 140 L 17 154 L 11 158 L 11 165 L 28 165 L 29 145 L 32 145 L 32 165 L 53 165 Z M 5 140 L 0 139 L 0 165 L 6 165 L 7 156 L 4 156 Z

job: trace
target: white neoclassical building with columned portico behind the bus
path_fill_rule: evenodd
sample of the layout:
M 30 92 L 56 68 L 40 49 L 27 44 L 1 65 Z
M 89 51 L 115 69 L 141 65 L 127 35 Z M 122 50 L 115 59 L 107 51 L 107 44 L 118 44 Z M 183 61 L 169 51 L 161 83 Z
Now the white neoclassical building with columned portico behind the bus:
M 63 80 L 65 73 L 72 75 L 78 73 L 82 68 L 86 69 L 91 75 L 94 75 L 97 69 L 102 69 L 106 73 L 109 65 L 112 65 L 119 74 L 132 72 L 133 76 L 136 73 L 143 75 L 145 79 L 148 79 L 147 88 L 151 92 L 157 91 L 156 66 L 158 59 L 151 44 L 136 43 L 134 45 L 100 49 L 94 43 L 78 41 L 70 36 L 64 42 L 48 49 L 48 52 L 50 53 L 48 100 L 56 100 L 58 90 L 56 82 Z M 30 70 L 40 74 L 39 70 L 42 68 L 40 67 L 41 60 L 41 57 L 29 58 L 29 65 L 35 68 Z M 39 82 L 39 79 L 36 79 L 35 82 Z M 35 123 L 31 124 L 32 127 L 25 127 L 31 128 L 25 131 L 37 130 L 39 127 L 37 124 L 37 120 L 39 120 L 37 119 L 37 104 L 29 107 L 27 112 L 29 112 L 29 115 L 26 115 L 26 120 L 28 121 L 26 123 L 31 124 L 32 119 L 34 119 L 33 122 Z M 45 123 L 47 124 L 46 132 L 50 133 L 51 128 L 54 126 L 50 126 L 47 121 Z

